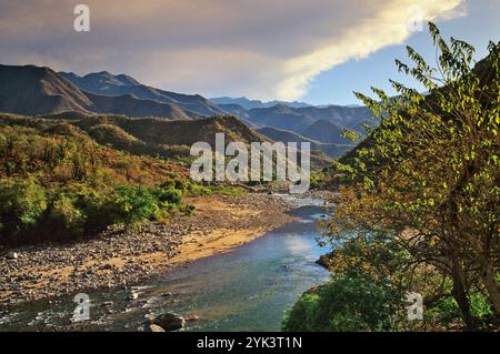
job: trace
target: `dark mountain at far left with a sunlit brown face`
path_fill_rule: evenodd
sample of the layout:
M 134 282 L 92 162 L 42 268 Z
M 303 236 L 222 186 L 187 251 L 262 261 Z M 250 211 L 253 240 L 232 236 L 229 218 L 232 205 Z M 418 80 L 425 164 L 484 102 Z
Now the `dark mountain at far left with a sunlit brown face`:
M 132 82 L 133 79 L 119 75 L 116 80 Z M 0 111 L 27 115 L 76 111 L 182 120 L 201 118 L 177 104 L 139 99 L 132 94 L 92 94 L 53 70 L 36 65 L 0 65 Z

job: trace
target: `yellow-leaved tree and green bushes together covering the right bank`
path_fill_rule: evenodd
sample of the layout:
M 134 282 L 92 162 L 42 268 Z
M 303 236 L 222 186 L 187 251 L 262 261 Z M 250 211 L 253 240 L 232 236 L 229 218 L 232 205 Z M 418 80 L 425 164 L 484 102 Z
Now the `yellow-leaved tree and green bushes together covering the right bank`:
M 301 297 L 286 330 L 499 328 L 500 44 L 473 65 L 471 45 L 429 28 L 437 68 L 412 48 L 413 65 L 396 61 L 429 94 L 394 81 L 396 98 L 357 93 L 381 123 L 324 225 L 336 275 Z M 408 292 L 423 295 L 423 321 L 407 320 Z

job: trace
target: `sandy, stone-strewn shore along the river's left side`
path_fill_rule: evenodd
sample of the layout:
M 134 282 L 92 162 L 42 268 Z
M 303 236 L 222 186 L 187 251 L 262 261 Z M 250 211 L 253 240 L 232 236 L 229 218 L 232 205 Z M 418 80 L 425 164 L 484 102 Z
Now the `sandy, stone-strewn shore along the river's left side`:
M 71 244 L 26 246 L 0 257 L 0 306 L 129 286 L 166 270 L 248 243 L 292 220 L 290 205 L 272 195 L 189 199 L 192 216 L 148 223 L 137 230 L 111 227 Z

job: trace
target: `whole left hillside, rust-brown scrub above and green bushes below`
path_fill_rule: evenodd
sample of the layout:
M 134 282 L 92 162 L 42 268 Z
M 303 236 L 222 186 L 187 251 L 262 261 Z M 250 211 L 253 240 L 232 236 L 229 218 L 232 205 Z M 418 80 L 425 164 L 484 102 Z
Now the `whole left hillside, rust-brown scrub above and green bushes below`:
M 61 121 L 0 120 L 0 243 L 94 235 L 108 225 L 190 213 L 211 191 L 177 164 L 103 146 Z

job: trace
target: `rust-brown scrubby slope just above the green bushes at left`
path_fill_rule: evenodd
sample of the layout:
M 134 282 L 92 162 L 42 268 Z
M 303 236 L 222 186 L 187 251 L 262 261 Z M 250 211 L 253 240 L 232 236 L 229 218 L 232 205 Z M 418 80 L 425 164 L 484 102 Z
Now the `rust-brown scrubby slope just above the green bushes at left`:
M 44 185 L 64 185 L 76 179 L 77 159 L 80 173 L 107 185 L 153 185 L 188 175 L 178 164 L 99 144 L 68 121 L 0 113 L 0 145 L 4 144 L 10 148 L 0 153 L 2 179 L 31 175 Z

